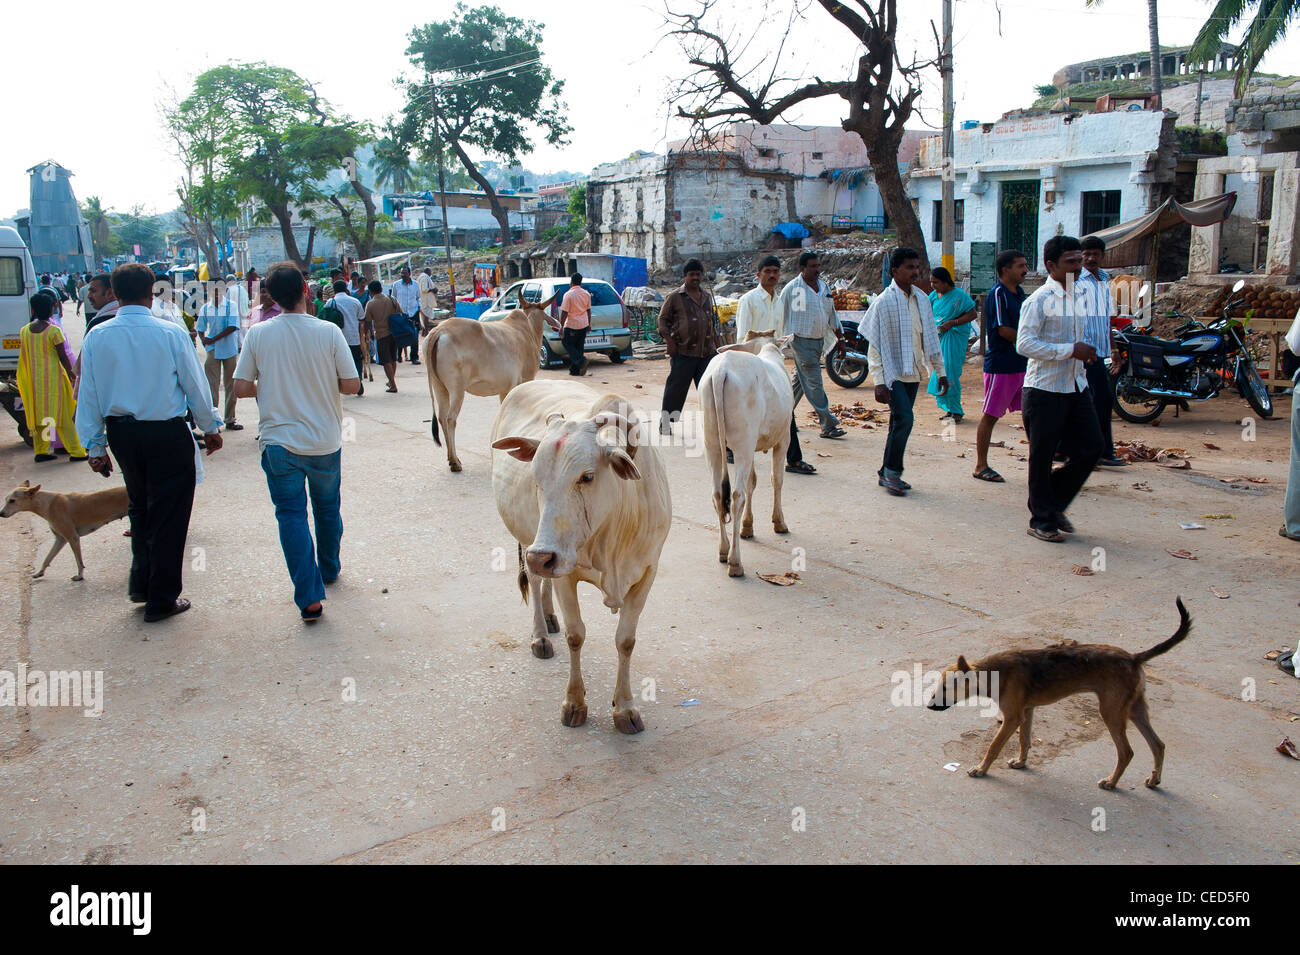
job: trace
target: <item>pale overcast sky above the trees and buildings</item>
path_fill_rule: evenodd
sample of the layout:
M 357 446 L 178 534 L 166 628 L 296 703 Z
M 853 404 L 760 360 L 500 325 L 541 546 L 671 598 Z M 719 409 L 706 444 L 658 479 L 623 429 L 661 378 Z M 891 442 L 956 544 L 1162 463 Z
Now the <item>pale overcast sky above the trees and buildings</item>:
M 693 5 L 671 1 L 679 9 Z M 774 16 L 767 39 L 755 49 L 775 49 L 785 32 L 780 12 L 793 1 L 768 0 Z M 589 170 L 634 149 L 659 151 L 684 135 L 664 107 L 664 91 L 684 60 L 672 40 L 658 40 L 662 0 L 499 0 L 498 5 L 545 25 L 543 56 L 567 81 L 569 143 L 540 146 L 525 166 Z M 447 18 L 454 6 L 452 0 L 396 6 L 335 0 L 6 4 L 9 43 L 0 75 L 10 110 L 0 136 L 0 216 L 27 205 L 23 170 L 47 159 L 75 174 L 78 199 L 98 195 L 113 210 L 136 204 L 147 212 L 174 208 L 178 168 L 161 133 L 157 103 L 168 84 L 186 91 L 196 74 L 231 60 L 292 69 L 338 109 L 382 121 L 402 104 L 393 79 L 407 66 L 407 32 L 417 23 Z M 737 25 L 753 25 L 763 3 L 722 0 L 719 6 Z M 940 1 L 906 0 L 900 6 L 902 48 L 931 56 L 930 22 L 939 22 Z M 1210 6 L 1209 0 L 1161 0 L 1161 44 L 1191 43 Z M 195 22 L 200 12 L 207 14 L 202 25 Z M 957 0 L 954 21 L 958 121 L 996 120 L 1030 105 L 1034 87 L 1049 83 L 1067 62 L 1148 45 L 1147 0 L 1105 0 L 1092 10 L 1084 9 L 1084 0 Z M 846 77 L 853 53 L 844 27 L 812 5 L 796 23 L 783 61 L 792 71 Z M 1300 29 L 1261 69 L 1300 71 Z M 937 125 L 937 73 L 930 75 L 922 104 L 911 126 Z M 828 99 L 789 118 L 829 125 L 841 116 L 837 101 Z

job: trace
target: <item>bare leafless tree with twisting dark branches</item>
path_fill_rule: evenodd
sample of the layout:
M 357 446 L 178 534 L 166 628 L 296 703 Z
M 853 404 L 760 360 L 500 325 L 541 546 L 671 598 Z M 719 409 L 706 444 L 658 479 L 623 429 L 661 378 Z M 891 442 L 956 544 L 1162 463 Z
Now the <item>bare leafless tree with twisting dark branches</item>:
M 898 240 L 920 252 L 928 269 L 920 222 L 904 192 L 898 148 L 920 96 L 920 73 L 937 66 L 937 57 L 905 62 L 898 55 L 897 0 L 815 0 L 807 5 L 790 0 L 785 35 L 775 53 L 757 52 L 753 57 L 749 51 L 764 32 L 762 26 L 745 36 L 715 22 L 718 0 L 699 0 L 698 8 L 688 13 L 673 10 L 671 3 L 666 6 L 667 35 L 676 38 L 694 70 L 671 90 L 670 101 L 677 107 L 677 116 L 690 120 L 692 139 L 707 147 L 719 142 L 731 123 L 750 120 L 770 125 L 801 103 L 838 96 L 848 108 L 840 125 L 861 136 Z M 780 74 L 794 21 L 806 19 L 805 9 L 814 5 L 859 44 L 849 79 Z

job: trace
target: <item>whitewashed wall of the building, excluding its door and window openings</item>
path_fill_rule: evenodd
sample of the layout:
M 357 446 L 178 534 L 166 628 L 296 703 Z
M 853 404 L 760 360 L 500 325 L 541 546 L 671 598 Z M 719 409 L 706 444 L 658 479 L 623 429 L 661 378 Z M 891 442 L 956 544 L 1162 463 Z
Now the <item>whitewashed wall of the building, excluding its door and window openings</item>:
M 1148 212 L 1174 179 L 1173 123 L 1173 114 L 1164 112 L 1126 110 L 1076 114 L 1069 122 L 1062 114 L 1010 117 L 958 130 L 954 159 L 965 234 L 954 248 L 957 269 L 968 274 L 971 242 L 1000 242 L 1008 181 L 1039 181 L 1035 259 L 1053 235 L 1083 231 L 1084 192 L 1118 190 L 1121 222 Z M 942 197 L 941 149 L 939 136 L 922 144 L 909 183 L 931 261 L 941 253 L 932 205 Z

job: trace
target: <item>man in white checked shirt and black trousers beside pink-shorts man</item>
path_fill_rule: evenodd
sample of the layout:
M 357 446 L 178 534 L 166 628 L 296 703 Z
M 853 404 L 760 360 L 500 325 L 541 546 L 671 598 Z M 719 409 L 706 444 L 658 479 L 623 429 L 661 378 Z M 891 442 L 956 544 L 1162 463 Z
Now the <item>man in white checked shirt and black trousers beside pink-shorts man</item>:
M 1098 363 L 1088 344 L 1088 291 L 1079 282 L 1083 249 L 1072 235 L 1043 247 L 1046 283 L 1024 300 L 1015 351 L 1027 357 L 1020 417 L 1030 440 L 1030 537 L 1061 543 L 1074 525 L 1065 516 L 1101 457 L 1101 429 L 1088 387 L 1087 365 Z M 1100 364 L 1100 363 L 1098 363 Z M 1069 459 L 1056 470 L 1060 446 Z

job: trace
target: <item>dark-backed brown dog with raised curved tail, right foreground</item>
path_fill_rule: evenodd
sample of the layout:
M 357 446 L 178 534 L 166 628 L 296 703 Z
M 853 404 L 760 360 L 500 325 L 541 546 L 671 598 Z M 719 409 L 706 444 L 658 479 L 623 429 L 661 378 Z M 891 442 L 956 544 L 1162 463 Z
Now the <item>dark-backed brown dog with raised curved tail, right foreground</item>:
M 970 696 L 971 687 L 992 686 L 992 695 L 1002 711 L 1002 726 L 989 743 L 984 761 L 970 770 L 971 776 L 984 776 L 989 765 L 1002 751 L 1011 734 L 1020 732 L 1020 755 L 1008 760 L 1011 769 L 1024 769 L 1030 755 L 1034 708 L 1056 703 L 1076 693 L 1097 694 L 1101 719 L 1115 742 L 1115 770 L 1097 785 L 1101 789 L 1114 789 L 1123 774 L 1134 750 L 1126 733 L 1128 720 L 1134 721 L 1141 733 L 1156 767 L 1147 777 L 1147 786 L 1160 785 L 1160 774 L 1165 767 L 1165 745 L 1150 728 L 1147 713 L 1143 664 L 1153 656 L 1167 652 L 1180 643 L 1192 629 L 1192 617 L 1178 598 L 1179 625 L 1174 635 L 1164 643 L 1157 643 L 1141 654 L 1105 643 L 1057 643 L 1041 650 L 1008 650 L 993 654 L 974 665 L 958 656 L 957 663 L 944 670 L 944 681 L 931 699 L 930 709 L 948 709 L 954 703 Z M 983 676 L 980 676 L 983 674 Z

